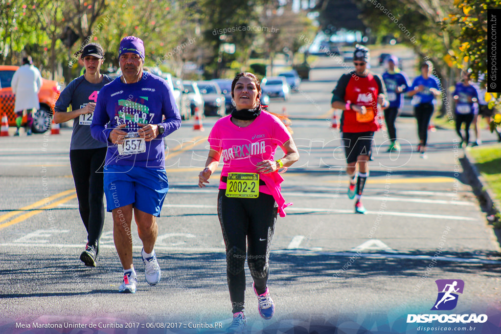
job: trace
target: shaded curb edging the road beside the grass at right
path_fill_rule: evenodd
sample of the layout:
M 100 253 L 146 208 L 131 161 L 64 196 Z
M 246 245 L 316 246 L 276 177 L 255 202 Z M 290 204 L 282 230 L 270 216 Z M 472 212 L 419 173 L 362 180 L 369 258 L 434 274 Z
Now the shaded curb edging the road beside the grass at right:
M 464 157 L 460 158 L 466 180 L 473 188 L 473 193 L 480 202 L 480 207 L 485 212 L 486 219 L 489 224 L 493 225 L 498 222 L 496 215 L 501 212 L 501 204 L 495 198 L 492 190 L 488 187 L 484 177 L 480 175 L 475 166 L 475 159 L 471 157 L 467 150 L 463 149 Z M 501 244 L 501 229 L 494 227 L 494 232 L 497 235 L 498 241 Z

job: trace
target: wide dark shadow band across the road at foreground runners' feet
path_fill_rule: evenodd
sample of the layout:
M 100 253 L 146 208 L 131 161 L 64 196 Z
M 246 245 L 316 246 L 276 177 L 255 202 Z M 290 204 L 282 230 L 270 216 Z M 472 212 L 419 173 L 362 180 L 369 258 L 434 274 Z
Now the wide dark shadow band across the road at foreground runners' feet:
M 392 253 L 393 254 L 393 253 Z M 116 255 L 102 257 L 97 268 L 88 268 L 78 259 L 70 261 L 61 257 L 45 257 L 39 255 L 10 254 L 2 261 L 0 275 L 0 298 L 26 297 L 60 297 L 86 294 L 117 293 L 116 289 L 99 289 L 98 285 L 116 285 L 122 268 Z M 421 277 L 427 266 L 432 263 L 430 258 L 415 259 L 410 256 L 431 256 L 434 250 L 415 250 L 406 253 L 405 258 L 388 258 L 374 254 L 374 256 L 357 257 L 357 254 L 347 255 L 326 254 L 315 252 L 272 251 L 270 268 L 273 272 L 273 281 L 278 284 L 308 281 L 324 282 L 339 280 L 337 284 L 349 286 L 351 281 L 346 278 L 373 279 L 374 277 L 393 277 L 394 279 Z M 497 263 L 474 263 L 468 259 L 495 259 L 499 260 L 496 252 L 446 252 L 440 256 L 454 257 L 457 260 L 438 260 L 435 268 L 441 272 L 457 273 L 458 275 L 475 274 L 477 276 L 492 277 L 499 275 L 501 268 Z M 24 256 L 22 263 L 18 256 Z M 224 253 L 171 253 L 157 254 L 162 268 L 162 281 L 159 288 L 181 288 L 187 293 L 196 293 L 198 289 L 225 288 L 226 261 Z M 144 266 L 136 258 L 136 271 L 139 279 L 144 278 Z M 353 260 L 352 260 L 353 259 Z M 50 265 L 48 265 L 50 263 Z M 346 265 L 350 263 L 347 267 Z M 343 266 L 346 269 L 343 269 Z M 246 269 L 248 274 L 248 269 Z M 339 279 L 336 275 L 339 274 Z M 333 278 L 334 277 L 334 278 Z M 89 289 L 91 285 L 91 289 Z M 324 287 L 322 287 L 324 288 Z M 325 287 L 330 288 L 329 286 Z M 5 293 L 9 292 L 9 293 Z

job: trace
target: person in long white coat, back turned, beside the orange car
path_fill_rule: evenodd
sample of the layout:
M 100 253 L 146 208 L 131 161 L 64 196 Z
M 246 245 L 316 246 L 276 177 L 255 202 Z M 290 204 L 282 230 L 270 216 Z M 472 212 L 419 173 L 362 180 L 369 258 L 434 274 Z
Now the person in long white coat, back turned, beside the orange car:
M 38 93 L 42 88 L 42 76 L 40 71 L 33 66 L 33 61 L 30 56 L 23 58 L 23 66 L 21 66 L 12 77 L 12 92 L 16 94 L 16 103 L 14 111 L 16 112 L 16 134 L 19 136 L 19 129 L 23 122 L 23 115 L 28 116 L 26 123 L 26 133 L 28 136 L 32 134 L 33 113 L 40 109 Z

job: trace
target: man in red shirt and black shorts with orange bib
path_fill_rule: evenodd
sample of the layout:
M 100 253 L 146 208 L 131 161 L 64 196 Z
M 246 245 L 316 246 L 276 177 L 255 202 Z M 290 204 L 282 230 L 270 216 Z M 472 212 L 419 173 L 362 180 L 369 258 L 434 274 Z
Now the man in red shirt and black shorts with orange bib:
M 341 132 L 348 164 L 346 172 L 350 177 L 348 197 L 357 198 L 355 213 L 361 214 L 366 212 L 360 199 L 369 176 L 374 132 L 378 130 L 378 105 L 388 106 L 383 81 L 367 69 L 369 60 L 369 50 L 357 44 L 353 55 L 355 71 L 341 76 L 331 101 L 332 108 L 343 111 Z

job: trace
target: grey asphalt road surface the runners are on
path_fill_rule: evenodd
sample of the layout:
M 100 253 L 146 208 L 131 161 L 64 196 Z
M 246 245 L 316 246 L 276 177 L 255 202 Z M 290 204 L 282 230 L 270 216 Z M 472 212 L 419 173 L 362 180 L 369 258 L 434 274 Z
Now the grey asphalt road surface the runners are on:
M 285 108 L 290 115 L 301 159 L 284 174 L 284 196 L 294 205 L 279 218 L 272 245 L 269 286 L 276 315 L 263 320 L 257 313 L 247 269 L 249 328 L 423 332 L 420 323 L 406 323 L 408 314 L 436 313 L 430 311 L 435 280 L 460 279 L 465 285 L 456 308 L 438 313 L 485 313 L 488 320 L 446 325 L 475 327 L 454 332 L 497 332 L 499 244 L 463 183 L 455 133 L 430 133 L 423 160 L 413 151 L 414 119 L 397 120 L 400 154 L 386 152 L 387 134 L 379 132 L 363 197 L 368 214 L 355 215 L 354 201 L 346 196 L 339 131 L 330 128 L 330 92 L 345 70 L 328 57 L 316 66 L 289 101 L 270 104 L 270 111 Z M 196 185 L 215 120 L 203 120 L 204 132 L 193 131 L 193 121 L 187 121 L 166 141 L 170 190 L 157 220 L 155 246 L 162 280 L 154 287 L 145 282 L 135 232 L 139 282 L 134 295 L 117 293 L 122 271 L 111 214 L 106 214 L 98 267 L 79 260 L 86 234 L 69 163 L 71 130 L 1 137 L 0 332 L 221 331 L 209 328 L 219 323 L 224 328 L 231 316 L 216 215 L 217 177 L 206 189 Z M 495 139 L 485 130 L 482 135 L 487 143 Z

